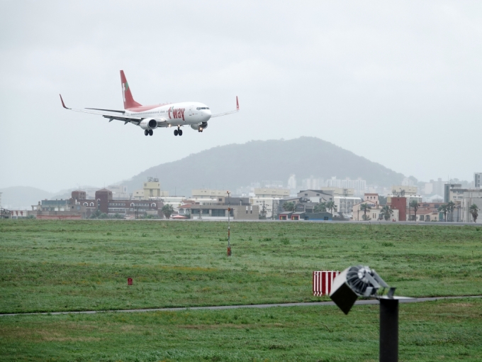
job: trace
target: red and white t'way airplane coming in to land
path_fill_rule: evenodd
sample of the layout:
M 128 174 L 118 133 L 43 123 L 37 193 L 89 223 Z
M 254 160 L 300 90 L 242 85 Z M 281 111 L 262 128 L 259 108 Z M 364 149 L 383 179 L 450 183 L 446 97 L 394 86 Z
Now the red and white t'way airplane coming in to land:
M 99 109 L 85 108 L 72 109 L 67 108 L 60 95 L 60 101 L 65 109 L 89 114 L 98 114 L 108 119 L 109 122 L 123 121 L 125 124 L 135 124 L 144 130 L 145 136 L 152 136 L 153 130 L 163 127 L 177 127 L 174 130 L 174 136 L 182 136 L 182 126 L 191 126 L 194 130 L 202 132 L 208 128 L 208 121 L 215 117 L 226 116 L 240 111 L 240 104 L 236 96 L 236 109 L 224 113 L 211 114 L 206 104 L 199 102 L 181 102 L 155 104 L 153 106 L 142 106 L 135 102 L 130 86 L 125 78 L 124 71 L 120 71 L 120 83 L 122 85 L 122 97 L 124 101 L 124 110 L 116 109 Z

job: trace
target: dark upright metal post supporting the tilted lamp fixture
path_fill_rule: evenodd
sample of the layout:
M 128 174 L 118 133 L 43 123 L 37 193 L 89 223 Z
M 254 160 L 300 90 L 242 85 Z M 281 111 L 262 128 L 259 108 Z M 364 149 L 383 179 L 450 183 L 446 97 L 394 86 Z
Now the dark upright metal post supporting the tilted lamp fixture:
M 380 299 L 380 362 L 398 362 L 398 300 Z

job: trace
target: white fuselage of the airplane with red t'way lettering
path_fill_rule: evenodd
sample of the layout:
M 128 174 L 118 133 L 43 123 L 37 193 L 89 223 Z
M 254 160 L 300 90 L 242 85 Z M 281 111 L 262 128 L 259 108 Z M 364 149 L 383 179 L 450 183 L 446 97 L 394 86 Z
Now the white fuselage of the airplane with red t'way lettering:
M 128 108 L 125 116 L 155 119 L 159 126 L 183 126 L 209 121 L 211 109 L 199 102 L 181 102 Z

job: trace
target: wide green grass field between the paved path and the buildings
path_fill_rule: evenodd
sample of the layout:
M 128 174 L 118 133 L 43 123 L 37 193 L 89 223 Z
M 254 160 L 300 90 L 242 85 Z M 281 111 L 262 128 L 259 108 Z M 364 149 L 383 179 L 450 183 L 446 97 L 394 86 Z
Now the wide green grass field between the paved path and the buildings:
M 358 263 L 375 268 L 398 295 L 482 294 L 476 226 L 233 223 L 232 258 L 226 227 L 2 221 L 0 312 L 314 301 L 313 270 Z

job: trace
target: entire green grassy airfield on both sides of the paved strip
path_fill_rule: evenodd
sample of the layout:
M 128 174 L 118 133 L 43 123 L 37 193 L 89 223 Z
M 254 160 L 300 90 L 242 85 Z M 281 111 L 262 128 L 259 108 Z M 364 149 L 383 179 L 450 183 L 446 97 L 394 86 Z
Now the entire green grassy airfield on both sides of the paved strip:
M 398 295 L 482 295 L 482 228 L 0 221 L 0 312 L 327 300 L 313 270 L 375 268 Z M 134 285 L 128 287 L 127 278 Z M 477 361 L 482 302 L 400 306 L 400 360 Z M 342 353 L 340 353 L 342 351 Z M 378 307 L 0 317 L 0 356 L 78 361 L 376 361 Z M 6 358 L 6 357 L 2 357 Z

